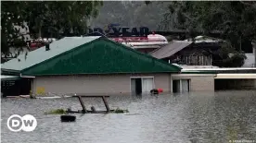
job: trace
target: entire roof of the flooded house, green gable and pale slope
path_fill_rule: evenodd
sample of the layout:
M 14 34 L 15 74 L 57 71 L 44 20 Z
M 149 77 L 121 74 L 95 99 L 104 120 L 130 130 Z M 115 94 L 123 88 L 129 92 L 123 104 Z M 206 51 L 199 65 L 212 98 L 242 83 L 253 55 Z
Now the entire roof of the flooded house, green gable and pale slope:
M 41 54 L 42 53 L 42 54 Z M 38 59 L 37 59 L 38 58 Z M 99 37 L 64 38 L 29 53 L 19 55 L 2 68 L 20 70 L 22 75 L 73 75 L 179 72 L 173 66 L 147 54 Z

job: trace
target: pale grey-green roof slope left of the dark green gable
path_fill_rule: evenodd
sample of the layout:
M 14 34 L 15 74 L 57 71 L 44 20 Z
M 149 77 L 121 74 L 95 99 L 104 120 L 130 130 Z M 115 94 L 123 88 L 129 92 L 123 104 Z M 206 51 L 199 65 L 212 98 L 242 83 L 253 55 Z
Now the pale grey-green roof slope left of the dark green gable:
M 70 51 L 71 49 L 76 48 L 86 42 L 92 42 L 99 37 L 100 36 L 65 37 L 61 40 L 50 43 L 49 51 L 45 51 L 44 46 L 28 53 L 27 58 L 25 58 L 25 54 L 20 54 L 17 58 L 1 64 L 1 68 L 20 71 L 36 64 L 42 63 L 45 60 L 53 58 L 58 54 Z

